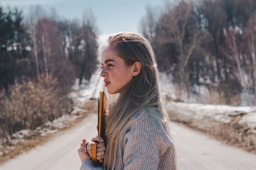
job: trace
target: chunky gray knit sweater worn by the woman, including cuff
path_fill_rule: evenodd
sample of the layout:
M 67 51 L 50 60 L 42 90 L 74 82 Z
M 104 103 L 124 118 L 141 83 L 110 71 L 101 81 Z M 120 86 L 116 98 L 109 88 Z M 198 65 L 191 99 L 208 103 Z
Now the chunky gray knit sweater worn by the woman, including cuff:
M 122 136 L 115 169 L 175 169 L 174 146 L 156 111 L 145 109 L 135 113 Z M 104 167 L 87 159 L 80 167 L 86 169 Z

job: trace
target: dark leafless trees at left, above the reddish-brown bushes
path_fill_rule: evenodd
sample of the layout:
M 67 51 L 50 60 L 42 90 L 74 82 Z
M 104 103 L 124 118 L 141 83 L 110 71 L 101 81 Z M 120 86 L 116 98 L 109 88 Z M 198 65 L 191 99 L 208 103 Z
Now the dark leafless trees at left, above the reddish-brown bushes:
M 97 64 L 97 35 L 92 11 L 83 21 L 60 20 L 41 6 L 22 11 L 0 7 L 0 88 L 21 81 L 40 80 L 40 75 L 58 79 L 69 90 L 74 79 L 90 80 Z

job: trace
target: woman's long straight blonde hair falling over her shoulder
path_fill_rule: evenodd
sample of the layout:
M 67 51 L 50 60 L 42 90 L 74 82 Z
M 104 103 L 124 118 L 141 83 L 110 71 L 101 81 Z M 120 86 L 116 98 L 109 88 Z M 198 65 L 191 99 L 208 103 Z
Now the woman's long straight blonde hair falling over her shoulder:
M 140 74 L 125 85 L 116 103 L 109 108 L 106 118 L 106 135 L 108 137 L 105 153 L 105 158 L 108 158 L 106 165 L 108 169 L 114 169 L 116 162 L 122 161 L 117 160 L 120 134 L 136 111 L 143 108 L 156 110 L 159 113 L 157 117 L 161 118 L 164 129 L 169 135 L 170 132 L 167 123 L 168 115 L 160 97 L 156 57 L 148 40 L 139 34 L 121 32 L 109 36 L 108 46 L 113 47 L 127 66 L 131 66 L 136 61 L 141 62 Z

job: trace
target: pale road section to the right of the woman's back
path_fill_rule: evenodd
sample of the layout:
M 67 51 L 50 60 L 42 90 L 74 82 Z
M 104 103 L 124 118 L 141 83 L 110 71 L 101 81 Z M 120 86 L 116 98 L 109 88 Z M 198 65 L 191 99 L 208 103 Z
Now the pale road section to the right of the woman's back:
M 172 123 L 178 169 L 255 170 L 256 155 L 226 145 L 184 125 Z

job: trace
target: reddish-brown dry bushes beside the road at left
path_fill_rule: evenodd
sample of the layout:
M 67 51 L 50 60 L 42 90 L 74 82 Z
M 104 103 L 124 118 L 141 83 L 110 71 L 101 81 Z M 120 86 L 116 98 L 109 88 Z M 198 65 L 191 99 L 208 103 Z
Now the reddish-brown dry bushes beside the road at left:
M 28 81 L 10 86 L 0 99 L 0 138 L 11 138 L 21 129 L 35 129 L 72 110 L 72 99 L 61 93 L 58 81 L 42 76 L 39 82 Z

